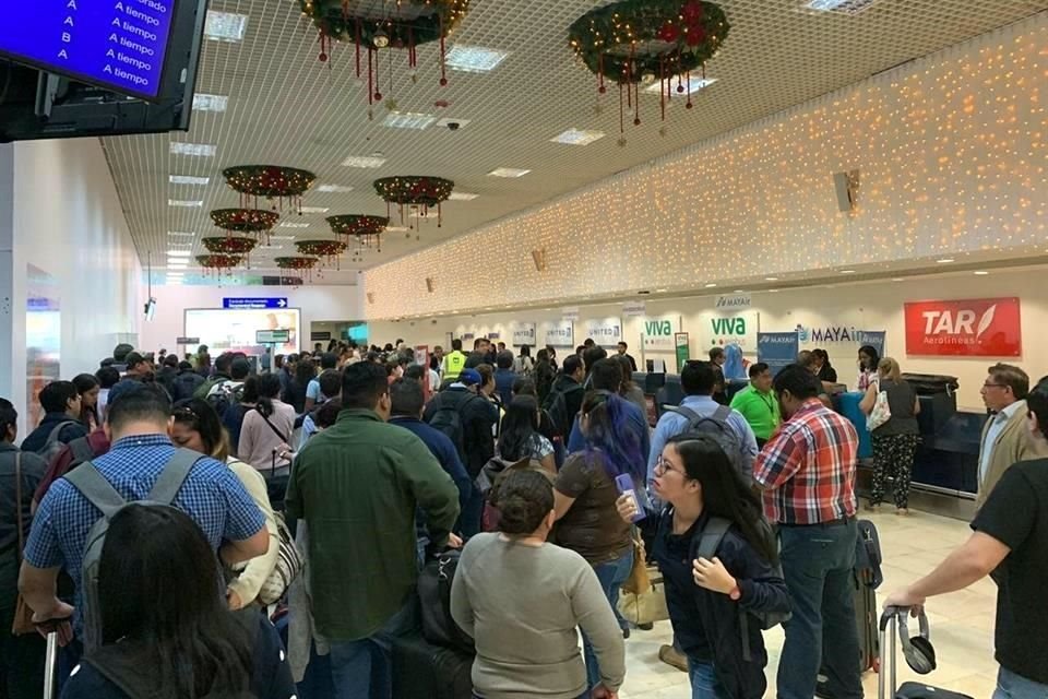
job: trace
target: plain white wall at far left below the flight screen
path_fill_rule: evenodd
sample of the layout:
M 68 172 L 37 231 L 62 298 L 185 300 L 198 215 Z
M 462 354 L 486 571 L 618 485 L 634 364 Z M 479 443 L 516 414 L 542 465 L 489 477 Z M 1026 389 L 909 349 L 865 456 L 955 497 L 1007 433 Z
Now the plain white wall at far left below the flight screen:
M 55 280 L 62 378 L 95 371 L 136 336 L 141 266 L 97 139 L 0 146 L 0 395 L 23 415 L 29 264 Z

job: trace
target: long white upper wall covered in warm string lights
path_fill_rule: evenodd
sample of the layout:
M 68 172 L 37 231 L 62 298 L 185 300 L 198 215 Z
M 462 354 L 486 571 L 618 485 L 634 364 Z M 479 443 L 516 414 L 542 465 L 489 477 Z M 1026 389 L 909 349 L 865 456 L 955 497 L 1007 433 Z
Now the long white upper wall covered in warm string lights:
M 370 270 L 365 310 L 475 312 L 1043 253 L 1046 32 L 1039 13 Z M 580 167 L 585 158 L 583 149 Z M 833 181 L 851 168 L 854 216 Z M 538 163 L 527 177 L 544 176 Z

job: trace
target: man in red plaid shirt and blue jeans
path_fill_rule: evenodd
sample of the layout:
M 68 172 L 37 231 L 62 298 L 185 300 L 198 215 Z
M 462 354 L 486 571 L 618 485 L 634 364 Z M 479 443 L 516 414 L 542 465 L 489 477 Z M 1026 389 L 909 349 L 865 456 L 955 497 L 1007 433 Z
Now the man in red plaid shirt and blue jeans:
M 820 665 L 833 699 L 861 699 L 855 624 L 855 461 L 851 423 L 819 400 L 817 378 L 793 365 L 775 377 L 786 422 L 753 465 L 764 513 L 777 522 L 794 603 L 778 665 L 779 699 L 811 699 Z M 825 649 L 825 652 L 823 652 Z

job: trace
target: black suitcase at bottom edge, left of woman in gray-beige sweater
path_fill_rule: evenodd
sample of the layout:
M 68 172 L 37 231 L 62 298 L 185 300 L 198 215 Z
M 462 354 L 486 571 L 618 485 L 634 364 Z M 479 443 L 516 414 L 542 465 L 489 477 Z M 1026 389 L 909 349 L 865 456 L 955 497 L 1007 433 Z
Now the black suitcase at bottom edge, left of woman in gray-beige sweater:
M 473 655 L 420 636 L 393 641 L 393 699 L 472 699 Z

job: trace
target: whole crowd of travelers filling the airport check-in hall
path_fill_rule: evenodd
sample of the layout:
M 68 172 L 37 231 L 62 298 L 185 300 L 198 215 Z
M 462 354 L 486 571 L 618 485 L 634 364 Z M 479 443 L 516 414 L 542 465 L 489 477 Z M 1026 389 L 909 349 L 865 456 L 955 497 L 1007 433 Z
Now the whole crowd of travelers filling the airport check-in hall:
M 859 437 L 826 405 L 829 355 L 773 375 L 716 348 L 651 424 L 626 343 L 532 350 L 119 345 L 31 396 L 24 439 L 0 399 L 0 699 L 41 696 L 48 637 L 67 699 L 390 699 L 420 571 L 449 550 L 479 699 L 619 696 L 651 628 L 620 593 L 648 564 L 674 631 L 658 657 L 694 699 L 763 697 L 779 624 L 779 698 L 862 697 Z M 891 485 L 905 517 L 920 401 L 896 360 L 859 359 L 868 507 Z M 1048 379 L 996 365 L 982 396 L 974 533 L 886 604 L 992 576 L 995 697 L 1044 698 Z

